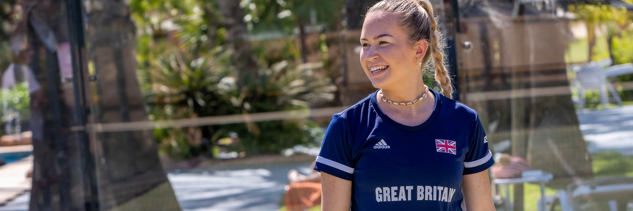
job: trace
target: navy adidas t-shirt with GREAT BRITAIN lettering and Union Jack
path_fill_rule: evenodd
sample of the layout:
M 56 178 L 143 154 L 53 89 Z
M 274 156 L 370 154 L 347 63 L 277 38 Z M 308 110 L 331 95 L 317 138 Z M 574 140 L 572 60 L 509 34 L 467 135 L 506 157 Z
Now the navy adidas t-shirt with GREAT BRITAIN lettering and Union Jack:
M 462 176 L 494 163 L 477 112 L 432 92 L 417 126 L 387 117 L 376 93 L 332 116 L 314 169 L 352 181 L 351 210 L 461 210 Z

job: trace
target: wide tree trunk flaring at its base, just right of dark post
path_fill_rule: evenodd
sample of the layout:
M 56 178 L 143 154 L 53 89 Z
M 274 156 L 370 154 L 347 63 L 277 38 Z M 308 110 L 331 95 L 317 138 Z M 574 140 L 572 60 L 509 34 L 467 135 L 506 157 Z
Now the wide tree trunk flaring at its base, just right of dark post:
M 116 124 L 147 121 L 135 57 L 136 27 L 125 1 L 92 1 L 88 11 L 91 43 L 89 58 L 96 81 L 91 93 L 92 122 Z M 158 159 L 152 131 L 103 131 L 92 140 L 96 146 L 101 210 L 180 210 Z M 141 203 L 159 200 L 161 203 Z M 144 206 L 144 207 L 141 207 Z

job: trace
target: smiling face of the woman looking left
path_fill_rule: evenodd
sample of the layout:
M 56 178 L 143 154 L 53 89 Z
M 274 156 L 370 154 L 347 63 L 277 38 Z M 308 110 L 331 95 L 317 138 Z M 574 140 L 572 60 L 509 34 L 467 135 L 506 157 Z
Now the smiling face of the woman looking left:
M 421 77 L 417 60 L 421 59 L 426 43 L 412 46 L 406 32 L 400 29 L 402 15 L 370 13 L 365 18 L 360 43 L 360 63 L 373 87 L 406 86 Z M 372 71 L 373 70 L 373 71 Z

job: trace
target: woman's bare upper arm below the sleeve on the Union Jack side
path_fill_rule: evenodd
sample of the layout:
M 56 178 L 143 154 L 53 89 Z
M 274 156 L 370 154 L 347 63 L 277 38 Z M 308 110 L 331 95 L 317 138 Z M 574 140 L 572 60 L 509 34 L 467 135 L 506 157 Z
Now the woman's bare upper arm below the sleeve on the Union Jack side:
M 488 170 L 463 176 L 461 191 L 468 211 L 494 210 Z

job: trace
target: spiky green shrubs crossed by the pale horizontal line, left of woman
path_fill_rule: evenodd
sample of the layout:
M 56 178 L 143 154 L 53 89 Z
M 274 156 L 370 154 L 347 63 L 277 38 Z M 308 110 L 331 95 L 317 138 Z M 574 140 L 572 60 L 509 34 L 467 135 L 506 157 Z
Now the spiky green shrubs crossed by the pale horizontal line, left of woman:
M 173 50 L 158 56 L 139 80 L 151 120 L 275 112 L 307 108 L 311 102 L 331 100 L 335 87 L 320 79 L 313 69 L 318 63 L 290 67 L 287 61 L 260 67 L 258 74 L 239 79 L 230 64 L 230 51 L 214 48 L 203 57 Z M 246 124 L 201 127 L 215 142 L 237 132 L 241 148 L 248 154 L 279 153 L 297 144 L 311 144 L 320 135 L 308 120 L 277 120 Z M 156 129 L 160 150 L 187 158 L 209 153 L 192 140 L 191 128 Z M 207 148 L 208 149 L 208 148 Z

